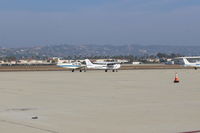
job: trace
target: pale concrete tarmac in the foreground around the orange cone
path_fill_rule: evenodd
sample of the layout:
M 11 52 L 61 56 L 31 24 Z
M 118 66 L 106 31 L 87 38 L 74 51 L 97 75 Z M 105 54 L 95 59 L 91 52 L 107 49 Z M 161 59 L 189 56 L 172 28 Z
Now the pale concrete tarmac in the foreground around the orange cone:
M 193 69 L 1 72 L 0 132 L 192 133 L 199 81 Z

